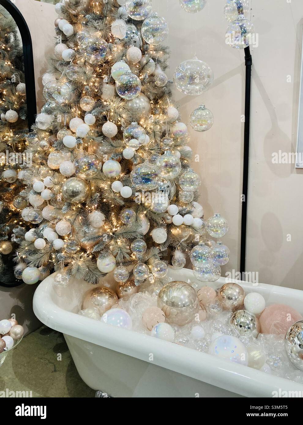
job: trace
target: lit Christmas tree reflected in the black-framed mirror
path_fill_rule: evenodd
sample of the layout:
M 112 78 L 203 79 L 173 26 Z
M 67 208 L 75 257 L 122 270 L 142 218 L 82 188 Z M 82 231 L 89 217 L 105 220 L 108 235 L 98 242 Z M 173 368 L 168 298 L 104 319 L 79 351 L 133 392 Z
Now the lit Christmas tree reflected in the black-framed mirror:
M 20 210 L 27 205 L 20 196 L 17 178 L 23 166 L 26 119 L 26 89 L 23 51 L 17 26 L 5 8 L 0 7 L 0 282 L 14 284 L 11 234 L 20 221 Z M 19 175 L 20 176 L 20 175 Z

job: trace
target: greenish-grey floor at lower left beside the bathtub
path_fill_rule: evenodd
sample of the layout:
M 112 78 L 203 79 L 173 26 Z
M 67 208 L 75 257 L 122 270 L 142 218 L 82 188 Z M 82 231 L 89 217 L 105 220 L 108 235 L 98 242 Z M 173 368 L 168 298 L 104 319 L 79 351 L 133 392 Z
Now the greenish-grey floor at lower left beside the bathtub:
M 61 360 L 58 360 L 60 359 Z M 0 391 L 32 397 L 94 397 L 80 378 L 63 334 L 42 326 L 23 338 L 0 367 Z

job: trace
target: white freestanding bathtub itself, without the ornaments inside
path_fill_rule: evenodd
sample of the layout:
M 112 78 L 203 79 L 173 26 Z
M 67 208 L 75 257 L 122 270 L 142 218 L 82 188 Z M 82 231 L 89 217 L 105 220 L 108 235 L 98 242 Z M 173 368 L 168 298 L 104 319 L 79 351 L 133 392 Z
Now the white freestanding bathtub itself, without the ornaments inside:
M 169 273 L 172 280 L 198 282 L 189 269 Z M 220 278 L 207 285 L 217 289 L 226 281 L 232 282 Z M 237 283 L 246 293 L 260 292 L 266 305 L 288 304 L 303 313 L 303 291 Z M 33 306 L 41 322 L 64 334 L 80 377 L 95 390 L 113 397 L 272 397 L 279 390 L 303 392 L 296 382 L 80 316 L 82 296 L 89 288 L 89 283 L 72 280 L 67 288 L 54 290 L 51 275 L 37 287 Z

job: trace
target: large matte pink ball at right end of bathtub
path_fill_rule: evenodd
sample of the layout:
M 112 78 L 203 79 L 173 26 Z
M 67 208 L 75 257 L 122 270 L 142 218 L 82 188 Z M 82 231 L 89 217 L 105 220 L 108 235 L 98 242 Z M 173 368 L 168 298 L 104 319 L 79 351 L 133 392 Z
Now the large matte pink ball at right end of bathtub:
M 262 334 L 285 334 L 293 323 L 302 319 L 302 315 L 285 304 L 273 304 L 266 307 L 260 315 Z

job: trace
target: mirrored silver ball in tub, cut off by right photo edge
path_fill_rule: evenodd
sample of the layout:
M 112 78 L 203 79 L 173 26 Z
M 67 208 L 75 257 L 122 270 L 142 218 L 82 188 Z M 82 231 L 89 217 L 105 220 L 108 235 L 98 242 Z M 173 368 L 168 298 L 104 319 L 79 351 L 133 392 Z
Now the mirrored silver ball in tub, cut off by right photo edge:
M 303 371 L 303 320 L 294 323 L 286 332 L 284 346 L 292 364 Z

